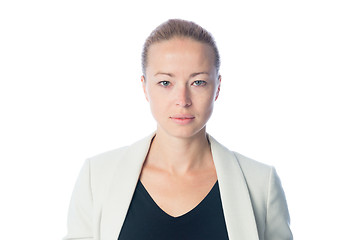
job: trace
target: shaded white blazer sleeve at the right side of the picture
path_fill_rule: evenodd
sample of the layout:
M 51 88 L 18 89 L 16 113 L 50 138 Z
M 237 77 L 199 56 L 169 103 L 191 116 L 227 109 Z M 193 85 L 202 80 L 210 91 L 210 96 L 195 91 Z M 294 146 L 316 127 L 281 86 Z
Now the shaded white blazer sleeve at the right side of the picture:
M 274 168 L 269 177 L 265 240 L 292 240 L 290 216 L 280 179 Z

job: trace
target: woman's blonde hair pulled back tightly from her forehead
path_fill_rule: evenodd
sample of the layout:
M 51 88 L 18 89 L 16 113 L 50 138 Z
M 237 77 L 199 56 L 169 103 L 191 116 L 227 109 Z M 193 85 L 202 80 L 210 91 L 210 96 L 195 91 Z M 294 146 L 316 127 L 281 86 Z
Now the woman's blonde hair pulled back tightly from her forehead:
M 155 28 L 147 37 L 142 51 L 142 71 L 145 76 L 148 64 L 148 51 L 152 44 L 170 40 L 174 37 L 188 37 L 195 41 L 208 44 L 215 54 L 215 68 L 219 73 L 220 55 L 213 36 L 198 24 L 182 19 L 169 19 Z

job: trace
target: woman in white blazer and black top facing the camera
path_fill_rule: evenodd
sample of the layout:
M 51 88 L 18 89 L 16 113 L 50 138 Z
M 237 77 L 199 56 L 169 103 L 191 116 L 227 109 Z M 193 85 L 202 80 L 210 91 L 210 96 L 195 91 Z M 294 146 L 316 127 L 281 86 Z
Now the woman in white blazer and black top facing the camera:
M 274 168 L 206 133 L 221 83 L 212 36 L 169 20 L 146 40 L 142 63 L 157 130 L 86 161 L 64 239 L 292 239 Z

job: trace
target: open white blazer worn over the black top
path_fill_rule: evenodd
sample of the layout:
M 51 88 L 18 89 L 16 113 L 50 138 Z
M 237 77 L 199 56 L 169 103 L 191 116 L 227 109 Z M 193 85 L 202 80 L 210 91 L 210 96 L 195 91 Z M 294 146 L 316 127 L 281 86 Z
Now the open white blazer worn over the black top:
M 85 162 L 71 198 L 64 240 L 118 239 L 153 136 Z M 229 239 L 292 240 L 275 169 L 208 138 Z

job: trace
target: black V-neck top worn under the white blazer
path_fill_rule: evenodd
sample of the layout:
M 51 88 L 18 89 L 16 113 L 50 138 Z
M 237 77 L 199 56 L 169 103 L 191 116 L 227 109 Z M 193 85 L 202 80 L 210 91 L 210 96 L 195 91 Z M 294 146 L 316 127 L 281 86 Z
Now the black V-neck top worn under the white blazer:
M 191 211 L 179 217 L 164 212 L 140 180 L 118 240 L 228 240 L 218 182 Z

